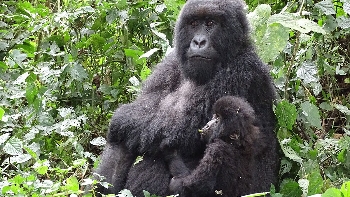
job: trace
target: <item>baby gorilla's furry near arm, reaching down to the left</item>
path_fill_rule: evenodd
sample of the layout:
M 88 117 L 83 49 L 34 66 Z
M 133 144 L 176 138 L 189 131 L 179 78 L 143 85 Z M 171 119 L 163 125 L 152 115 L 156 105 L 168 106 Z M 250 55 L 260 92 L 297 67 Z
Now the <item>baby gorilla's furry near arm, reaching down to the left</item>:
M 170 181 L 169 189 L 181 196 L 190 195 L 188 192 L 214 195 L 216 178 L 223 162 L 223 150 L 227 148 L 228 144 L 220 139 L 208 144 L 198 167 L 189 176 L 174 177 Z

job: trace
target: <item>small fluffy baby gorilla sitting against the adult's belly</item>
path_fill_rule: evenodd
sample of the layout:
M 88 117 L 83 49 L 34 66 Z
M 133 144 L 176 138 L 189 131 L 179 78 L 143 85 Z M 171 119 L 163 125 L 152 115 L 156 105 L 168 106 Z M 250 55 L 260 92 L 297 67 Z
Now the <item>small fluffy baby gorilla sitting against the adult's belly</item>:
M 250 194 L 257 171 L 255 155 L 265 147 L 253 125 L 254 110 L 244 99 L 225 96 L 217 100 L 213 119 L 202 129 L 207 142 L 204 157 L 192 172 L 177 151 L 165 151 L 171 179 L 169 189 L 184 196 L 243 196 Z M 165 150 L 163 148 L 163 150 Z

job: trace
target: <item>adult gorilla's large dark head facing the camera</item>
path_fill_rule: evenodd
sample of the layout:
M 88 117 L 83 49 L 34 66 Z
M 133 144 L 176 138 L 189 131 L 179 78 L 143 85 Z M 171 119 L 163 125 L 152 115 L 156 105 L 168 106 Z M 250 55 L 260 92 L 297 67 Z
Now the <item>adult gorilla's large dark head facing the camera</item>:
M 175 47 L 184 75 L 205 83 L 229 65 L 248 40 L 241 0 L 189 0 L 175 26 Z

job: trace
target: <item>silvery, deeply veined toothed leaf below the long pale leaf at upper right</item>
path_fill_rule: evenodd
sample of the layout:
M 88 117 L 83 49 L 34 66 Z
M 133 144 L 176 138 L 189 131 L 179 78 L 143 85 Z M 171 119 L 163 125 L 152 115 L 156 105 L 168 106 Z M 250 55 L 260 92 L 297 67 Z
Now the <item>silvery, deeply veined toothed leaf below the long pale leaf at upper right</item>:
M 303 62 L 296 70 L 296 76 L 303 80 L 304 83 L 318 81 L 317 67 L 312 61 Z

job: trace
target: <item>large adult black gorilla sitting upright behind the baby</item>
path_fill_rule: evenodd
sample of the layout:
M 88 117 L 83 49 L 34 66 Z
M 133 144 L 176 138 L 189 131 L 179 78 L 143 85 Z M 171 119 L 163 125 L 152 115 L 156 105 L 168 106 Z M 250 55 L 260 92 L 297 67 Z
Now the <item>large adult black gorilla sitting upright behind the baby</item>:
M 269 69 L 255 54 L 240 0 L 189 0 L 175 27 L 175 52 L 143 84 L 142 94 L 121 105 L 111 120 L 97 173 L 118 193 L 127 188 L 166 196 L 170 176 L 160 143 L 182 155 L 193 170 L 203 156 L 198 129 L 211 120 L 216 100 L 244 97 L 257 114 L 255 125 L 268 147 L 257 158 L 256 192 L 275 181 L 278 159 L 273 133 L 274 91 Z M 136 156 L 144 160 L 131 167 Z M 232 185 L 234 186 L 234 185 Z

